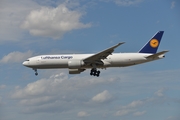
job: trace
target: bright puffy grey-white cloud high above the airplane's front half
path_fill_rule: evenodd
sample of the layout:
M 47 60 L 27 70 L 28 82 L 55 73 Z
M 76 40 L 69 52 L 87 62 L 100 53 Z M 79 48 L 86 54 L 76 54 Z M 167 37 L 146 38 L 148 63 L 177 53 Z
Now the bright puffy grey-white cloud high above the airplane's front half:
M 91 27 L 91 24 L 80 22 L 83 13 L 70 10 L 65 4 L 58 7 L 42 7 L 32 10 L 21 27 L 34 36 L 61 38 L 66 32 Z

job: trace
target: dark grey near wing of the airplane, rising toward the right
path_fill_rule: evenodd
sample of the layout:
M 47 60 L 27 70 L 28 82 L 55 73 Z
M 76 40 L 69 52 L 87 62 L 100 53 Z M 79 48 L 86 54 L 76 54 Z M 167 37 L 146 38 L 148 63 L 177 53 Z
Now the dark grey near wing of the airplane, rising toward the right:
M 114 46 L 112 46 L 112 47 L 110 47 L 108 49 L 105 49 L 105 50 L 103 50 L 103 51 L 101 51 L 99 53 L 96 53 L 96 54 L 94 54 L 94 55 L 92 55 L 90 57 L 87 57 L 83 61 L 86 64 L 88 64 L 88 63 L 89 64 L 91 64 L 91 63 L 96 63 L 96 64 L 99 63 L 100 64 L 100 63 L 102 63 L 101 62 L 102 59 L 106 59 L 107 56 L 112 54 L 112 52 L 114 51 L 115 48 L 117 48 L 118 46 L 120 46 L 122 44 L 124 44 L 124 42 L 118 43 L 117 45 L 114 45 Z

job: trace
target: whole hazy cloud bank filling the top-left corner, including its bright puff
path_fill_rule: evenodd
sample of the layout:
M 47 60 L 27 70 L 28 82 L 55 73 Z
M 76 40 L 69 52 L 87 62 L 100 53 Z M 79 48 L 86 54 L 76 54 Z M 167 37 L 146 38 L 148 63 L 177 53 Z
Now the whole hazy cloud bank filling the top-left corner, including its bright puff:
M 24 40 L 27 30 L 34 36 L 58 39 L 69 31 L 91 27 L 90 23 L 80 22 L 85 12 L 72 10 L 74 6 L 78 6 L 78 2 L 3 0 L 0 4 L 0 42 Z

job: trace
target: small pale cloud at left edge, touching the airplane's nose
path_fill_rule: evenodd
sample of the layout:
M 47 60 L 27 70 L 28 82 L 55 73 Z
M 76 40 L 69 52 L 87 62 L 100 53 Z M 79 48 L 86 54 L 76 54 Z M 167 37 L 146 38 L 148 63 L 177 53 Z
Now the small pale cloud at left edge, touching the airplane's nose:
M 24 60 L 26 60 L 27 58 L 29 58 L 30 56 L 32 56 L 32 51 L 27 51 L 27 52 L 19 52 L 19 51 L 15 51 L 15 52 L 11 52 L 8 55 L 4 56 L 1 60 L 0 63 L 19 63 L 19 62 L 23 62 Z

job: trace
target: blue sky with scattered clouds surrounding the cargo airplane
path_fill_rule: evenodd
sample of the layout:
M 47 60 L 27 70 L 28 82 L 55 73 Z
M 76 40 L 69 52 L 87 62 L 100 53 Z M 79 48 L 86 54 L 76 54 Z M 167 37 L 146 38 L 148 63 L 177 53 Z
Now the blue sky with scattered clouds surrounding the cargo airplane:
M 179 120 L 179 0 L 1 0 L 0 120 Z M 126 68 L 34 71 L 41 54 L 137 52 L 165 31 L 164 59 Z

